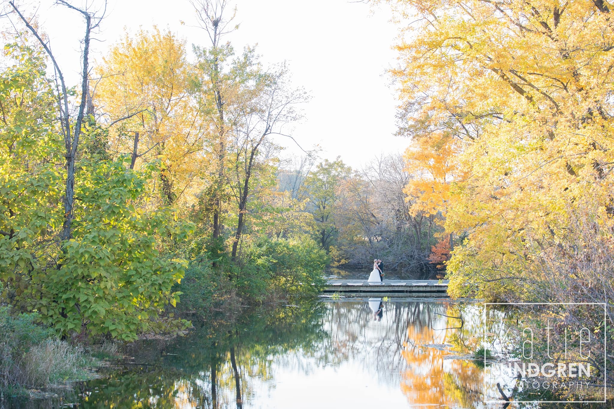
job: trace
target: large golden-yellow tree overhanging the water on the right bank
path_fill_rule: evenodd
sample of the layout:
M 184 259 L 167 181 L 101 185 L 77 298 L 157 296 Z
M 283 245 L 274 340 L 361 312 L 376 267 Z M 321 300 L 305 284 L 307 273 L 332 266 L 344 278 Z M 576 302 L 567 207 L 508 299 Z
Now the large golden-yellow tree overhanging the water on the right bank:
M 550 279 L 536 268 L 545 254 L 580 240 L 570 216 L 588 215 L 604 234 L 612 224 L 612 6 L 391 3 L 416 21 L 402 27 L 393 70 L 401 131 L 424 155 L 429 135 L 447 132 L 467 175 L 449 191 L 446 229 L 468 236 L 448 265 L 451 293 L 533 297 Z M 433 202 L 427 186 L 409 193 L 417 189 Z

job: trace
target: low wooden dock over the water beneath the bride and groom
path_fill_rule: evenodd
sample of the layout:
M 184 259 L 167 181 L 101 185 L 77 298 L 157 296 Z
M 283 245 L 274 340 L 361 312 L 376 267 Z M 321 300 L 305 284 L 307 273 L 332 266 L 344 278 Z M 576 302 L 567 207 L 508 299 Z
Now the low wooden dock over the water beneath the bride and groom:
M 324 292 L 368 292 L 378 294 L 409 293 L 419 297 L 447 297 L 448 280 L 328 280 Z

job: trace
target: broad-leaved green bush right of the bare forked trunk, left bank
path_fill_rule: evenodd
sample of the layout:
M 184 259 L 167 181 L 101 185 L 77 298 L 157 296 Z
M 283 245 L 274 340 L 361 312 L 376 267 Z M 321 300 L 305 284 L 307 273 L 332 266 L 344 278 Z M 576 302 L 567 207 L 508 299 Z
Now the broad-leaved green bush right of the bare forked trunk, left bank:
M 130 340 L 147 331 L 150 315 L 178 300 L 171 287 L 181 280 L 185 261 L 161 255 L 156 237 L 182 240 L 188 229 L 173 223 L 168 209 L 144 213 L 134 207 L 150 174 L 126 172 L 123 159 L 82 164 L 87 178 L 76 189 L 82 201 L 74 237 L 64 245 L 61 268 L 45 277 L 39 307 L 60 331 L 88 322 L 91 334 Z

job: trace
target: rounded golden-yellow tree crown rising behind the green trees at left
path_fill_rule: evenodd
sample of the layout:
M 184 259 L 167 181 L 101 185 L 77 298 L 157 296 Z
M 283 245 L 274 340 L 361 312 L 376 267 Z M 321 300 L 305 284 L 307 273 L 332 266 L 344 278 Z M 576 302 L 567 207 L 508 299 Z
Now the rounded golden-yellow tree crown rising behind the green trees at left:
M 193 200 L 199 189 L 206 126 L 190 96 L 191 66 L 185 41 L 170 31 L 127 32 L 96 67 L 91 82 L 97 113 L 109 124 L 112 151 L 138 167 L 163 161 L 160 197 L 165 204 Z

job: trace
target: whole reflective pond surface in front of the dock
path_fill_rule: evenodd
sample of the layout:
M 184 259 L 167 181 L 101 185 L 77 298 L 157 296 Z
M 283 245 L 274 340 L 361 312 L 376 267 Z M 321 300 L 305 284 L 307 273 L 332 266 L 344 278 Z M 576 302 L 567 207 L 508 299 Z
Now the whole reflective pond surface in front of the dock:
M 462 319 L 461 319 L 462 318 Z M 251 310 L 170 344 L 58 400 L 85 408 L 486 407 L 481 308 L 447 300 L 328 300 Z M 452 359 L 451 359 L 452 358 Z M 490 391 L 496 391 L 487 385 Z

